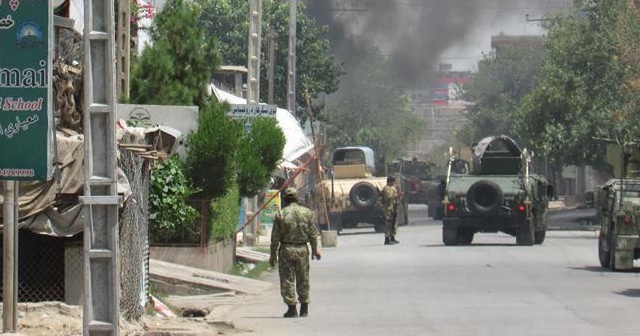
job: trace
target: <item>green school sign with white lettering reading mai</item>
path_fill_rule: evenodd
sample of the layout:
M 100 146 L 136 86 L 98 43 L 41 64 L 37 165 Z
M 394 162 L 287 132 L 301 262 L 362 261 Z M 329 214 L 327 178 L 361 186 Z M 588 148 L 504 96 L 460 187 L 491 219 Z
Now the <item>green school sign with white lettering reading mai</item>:
M 52 168 L 51 1 L 0 0 L 0 180 Z

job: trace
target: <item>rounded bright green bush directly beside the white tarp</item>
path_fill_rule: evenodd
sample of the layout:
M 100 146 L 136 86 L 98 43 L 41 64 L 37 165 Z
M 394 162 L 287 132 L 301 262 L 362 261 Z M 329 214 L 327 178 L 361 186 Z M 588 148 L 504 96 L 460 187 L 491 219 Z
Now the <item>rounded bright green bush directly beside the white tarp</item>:
M 255 196 L 269 183 L 271 173 L 282 159 L 285 136 L 275 118 L 256 118 L 238 147 L 240 195 Z

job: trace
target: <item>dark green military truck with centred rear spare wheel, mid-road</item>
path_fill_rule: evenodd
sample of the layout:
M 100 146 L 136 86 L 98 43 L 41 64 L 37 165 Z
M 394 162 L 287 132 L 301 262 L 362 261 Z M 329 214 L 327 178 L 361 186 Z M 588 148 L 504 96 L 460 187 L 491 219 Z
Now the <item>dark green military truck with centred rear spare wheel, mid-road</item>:
M 470 171 L 452 172 L 449 160 L 444 197 L 442 241 L 471 244 L 479 232 L 504 232 L 517 245 L 542 244 L 553 188 L 530 172 L 532 153 L 508 136 L 490 136 L 472 146 Z

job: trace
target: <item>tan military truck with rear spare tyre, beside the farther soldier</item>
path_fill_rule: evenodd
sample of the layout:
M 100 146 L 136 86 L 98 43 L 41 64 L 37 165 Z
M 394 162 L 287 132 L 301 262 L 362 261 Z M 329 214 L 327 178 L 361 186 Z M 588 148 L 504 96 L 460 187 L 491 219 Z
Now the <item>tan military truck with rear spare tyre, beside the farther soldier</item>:
M 380 191 L 387 177 L 376 173 L 375 155 L 364 146 L 340 147 L 333 151 L 331 173 L 322 181 L 327 198 L 332 230 L 372 224 L 375 232 L 384 231 L 384 211 Z M 379 176 L 383 175 L 383 176 Z M 408 223 L 408 203 L 405 198 L 398 209 L 398 224 Z

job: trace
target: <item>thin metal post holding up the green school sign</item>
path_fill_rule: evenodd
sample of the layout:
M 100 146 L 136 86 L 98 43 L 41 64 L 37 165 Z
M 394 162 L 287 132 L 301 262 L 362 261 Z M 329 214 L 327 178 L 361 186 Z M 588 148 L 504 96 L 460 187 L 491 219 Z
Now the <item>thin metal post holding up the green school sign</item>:
M 15 181 L 4 181 L 3 273 L 2 273 L 2 331 L 14 333 L 18 325 L 16 306 L 18 305 L 16 274 L 16 225 L 15 225 Z

